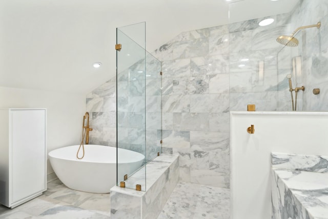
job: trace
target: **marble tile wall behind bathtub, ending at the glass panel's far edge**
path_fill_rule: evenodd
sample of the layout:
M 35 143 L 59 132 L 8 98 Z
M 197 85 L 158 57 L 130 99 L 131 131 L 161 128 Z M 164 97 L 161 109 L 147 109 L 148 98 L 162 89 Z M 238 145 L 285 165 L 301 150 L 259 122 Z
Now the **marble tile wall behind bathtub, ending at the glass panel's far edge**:
M 118 73 L 117 92 L 114 77 L 87 95 L 87 111 L 93 128 L 90 144 L 116 147 L 117 95 L 118 147 L 142 154 L 147 151 L 147 161 L 161 152 L 160 71 L 161 63 L 147 54 L 146 62 L 140 60 Z

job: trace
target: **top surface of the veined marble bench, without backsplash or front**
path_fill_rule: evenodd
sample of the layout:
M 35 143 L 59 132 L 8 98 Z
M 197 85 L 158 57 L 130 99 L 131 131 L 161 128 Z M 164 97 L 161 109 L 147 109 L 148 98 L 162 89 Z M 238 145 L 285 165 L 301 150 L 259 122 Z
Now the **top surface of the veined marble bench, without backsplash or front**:
M 284 184 L 284 192 L 293 197 L 284 201 L 299 202 L 302 212 L 310 218 L 328 218 L 328 173 L 300 170 L 273 170 L 275 177 Z M 281 192 L 281 189 L 280 189 Z M 304 215 L 306 213 L 303 213 Z M 305 218 L 305 217 L 304 217 Z

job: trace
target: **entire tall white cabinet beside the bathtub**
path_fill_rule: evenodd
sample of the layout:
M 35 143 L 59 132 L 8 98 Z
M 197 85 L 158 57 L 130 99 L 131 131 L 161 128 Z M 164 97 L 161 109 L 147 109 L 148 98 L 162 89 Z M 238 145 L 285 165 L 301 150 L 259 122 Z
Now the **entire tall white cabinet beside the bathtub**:
M 0 204 L 13 208 L 47 189 L 46 109 L 0 110 Z

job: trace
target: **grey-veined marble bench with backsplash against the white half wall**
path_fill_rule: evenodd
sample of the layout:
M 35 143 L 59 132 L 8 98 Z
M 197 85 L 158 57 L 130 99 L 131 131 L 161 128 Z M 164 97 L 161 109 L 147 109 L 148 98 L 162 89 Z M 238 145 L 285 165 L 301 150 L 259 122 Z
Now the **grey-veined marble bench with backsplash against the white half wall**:
M 326 158 L 272 153 L 273 219 L 328 219 Z

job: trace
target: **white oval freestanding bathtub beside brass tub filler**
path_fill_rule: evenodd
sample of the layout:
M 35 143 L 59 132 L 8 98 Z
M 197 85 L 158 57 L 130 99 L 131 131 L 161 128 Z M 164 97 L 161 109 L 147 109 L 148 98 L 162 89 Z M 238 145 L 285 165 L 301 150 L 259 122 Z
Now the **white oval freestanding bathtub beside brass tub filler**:
M 49 152 L 50 164 L 59 180 L 67 187 L 84 192 L 109 193 L 116 185 L 116 148 L 85 145 L 85 156 L 76 158 L 79 145 L 58 148 Z M 82 148 L 79 154 L 81 155 Z M 119 170 L 132 174 L 139 169 L 145 156 L 118 148 Z M 125 171 L 121 171 L 121 170 Z M 124 178 L 124 175 L 118 176 Z

